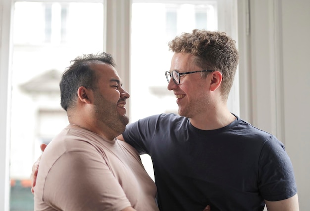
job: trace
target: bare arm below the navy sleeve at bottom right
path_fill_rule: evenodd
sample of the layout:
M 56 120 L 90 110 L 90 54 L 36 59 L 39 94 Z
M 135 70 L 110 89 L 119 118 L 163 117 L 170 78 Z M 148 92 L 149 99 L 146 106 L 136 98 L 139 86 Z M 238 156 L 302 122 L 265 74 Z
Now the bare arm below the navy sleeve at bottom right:
M 295 194 L 291 198 L 280 201 L 265 200 L 268 211 L 299 211 L 298 196 Z

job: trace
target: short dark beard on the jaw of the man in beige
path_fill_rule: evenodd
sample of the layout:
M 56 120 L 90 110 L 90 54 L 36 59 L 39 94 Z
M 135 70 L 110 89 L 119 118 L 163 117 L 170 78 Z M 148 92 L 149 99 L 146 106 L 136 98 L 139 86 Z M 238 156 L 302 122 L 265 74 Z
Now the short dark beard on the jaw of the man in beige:
M 117 111 L 117 103 L 108 101 L 102 94 L 95 92 L 94 101 L 95 114 L 100 124 L 108 126 L 118 135 L 122 134 L 129 123 L 126 115 Z

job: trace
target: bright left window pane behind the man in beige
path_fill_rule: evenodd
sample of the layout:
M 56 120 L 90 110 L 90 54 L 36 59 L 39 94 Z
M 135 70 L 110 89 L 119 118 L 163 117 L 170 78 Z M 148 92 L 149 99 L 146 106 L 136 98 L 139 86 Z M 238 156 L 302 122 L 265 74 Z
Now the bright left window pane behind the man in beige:
M 33 211 L 32 164 L 67 124 L 61 73 L 76 56 L 103 51 L 103 3 L 16 2 L 13 21 L 11 211 Z

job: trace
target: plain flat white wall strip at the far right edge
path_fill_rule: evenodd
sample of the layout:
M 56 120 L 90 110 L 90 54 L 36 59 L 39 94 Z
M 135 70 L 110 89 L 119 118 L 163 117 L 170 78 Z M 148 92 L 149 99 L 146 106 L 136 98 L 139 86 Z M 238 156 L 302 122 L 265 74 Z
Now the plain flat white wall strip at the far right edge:
M 310 1 L 283 0 L 284 136 L 300 210 L 310 209 Z

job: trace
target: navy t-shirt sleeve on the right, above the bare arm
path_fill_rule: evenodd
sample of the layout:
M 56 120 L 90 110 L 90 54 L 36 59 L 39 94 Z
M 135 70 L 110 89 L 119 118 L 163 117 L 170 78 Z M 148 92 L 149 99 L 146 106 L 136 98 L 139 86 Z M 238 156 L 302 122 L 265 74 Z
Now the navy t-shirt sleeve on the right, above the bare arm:
M 268 201 L 288 199 L 297 193 L 293 166 L 284 145 L 270 136 L 262 148 L 258 186 Z

